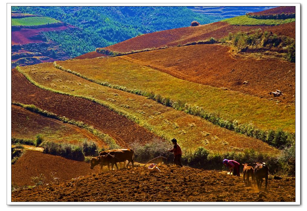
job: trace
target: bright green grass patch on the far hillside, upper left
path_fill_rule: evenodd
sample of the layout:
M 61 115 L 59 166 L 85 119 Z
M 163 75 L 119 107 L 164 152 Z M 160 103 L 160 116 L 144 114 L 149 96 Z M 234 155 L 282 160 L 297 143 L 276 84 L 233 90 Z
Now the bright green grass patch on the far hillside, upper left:
M 50 17 L 12 18 L 12 26 L 37 26 L 58 23 L 60 21 Z

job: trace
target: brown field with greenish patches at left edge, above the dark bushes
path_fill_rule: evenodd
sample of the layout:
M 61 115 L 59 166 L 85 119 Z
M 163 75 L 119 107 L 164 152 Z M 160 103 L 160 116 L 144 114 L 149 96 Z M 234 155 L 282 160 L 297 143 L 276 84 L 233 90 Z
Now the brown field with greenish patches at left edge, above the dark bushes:
M 100 148 L 108 147 L 102 139 L 85 129 L 43 117 L 16 105 L 12 105 L 11 117 L 14 138 L 35 140 L 37 134 L 42 134 L 47 141 L 79 144 L 80 141 L 87 139 L 94 141 Z

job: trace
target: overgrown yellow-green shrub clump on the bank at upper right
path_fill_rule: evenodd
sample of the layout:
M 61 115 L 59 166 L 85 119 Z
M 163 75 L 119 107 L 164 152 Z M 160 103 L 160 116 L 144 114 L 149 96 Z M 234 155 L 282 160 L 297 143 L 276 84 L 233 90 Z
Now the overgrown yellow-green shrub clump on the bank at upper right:
M 231 41 L 231 44 L 239 51 L 278 48 L 279 52 L 285 53 L 284 57 L 288 61 L 295 62 L 295 39 L 288 36 L 276 35 L 257 29 L 248 33 L 229 33 L 227 37 L 220 39 L 220 42 L 225 43 L 227 40 Z

